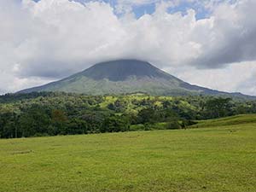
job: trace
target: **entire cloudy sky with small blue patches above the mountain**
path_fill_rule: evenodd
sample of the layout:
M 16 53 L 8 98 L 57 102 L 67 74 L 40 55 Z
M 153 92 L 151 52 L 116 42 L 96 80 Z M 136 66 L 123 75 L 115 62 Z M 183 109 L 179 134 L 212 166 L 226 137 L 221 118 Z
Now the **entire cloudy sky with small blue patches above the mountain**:
M 0 0 L 0 94 L 137 59 L 256 96 L 255 0 Z

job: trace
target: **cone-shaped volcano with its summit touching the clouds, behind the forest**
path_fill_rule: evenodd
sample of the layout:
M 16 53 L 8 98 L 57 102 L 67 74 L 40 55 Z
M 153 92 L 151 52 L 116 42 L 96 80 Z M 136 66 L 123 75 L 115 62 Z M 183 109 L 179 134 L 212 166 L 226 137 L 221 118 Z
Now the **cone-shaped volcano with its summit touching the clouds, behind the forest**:
M 188 84 L 146 61 L 118 60 L 98 63 L 83 72 L 50 84 L 20 90 L 64 91 L 88 95 L 143 92 L 154 96 L 212 95 L 249 97 Z

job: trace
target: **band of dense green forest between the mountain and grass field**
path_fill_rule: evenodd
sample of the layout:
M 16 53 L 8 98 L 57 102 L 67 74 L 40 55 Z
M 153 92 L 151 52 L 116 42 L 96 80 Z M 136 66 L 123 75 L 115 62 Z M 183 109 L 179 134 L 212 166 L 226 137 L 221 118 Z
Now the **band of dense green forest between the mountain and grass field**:
M 0 137 L 179 129 L 195 120 L 241 113 L 256 113 L 256 102 L 212 96 L 9 94 L 0 96 Z

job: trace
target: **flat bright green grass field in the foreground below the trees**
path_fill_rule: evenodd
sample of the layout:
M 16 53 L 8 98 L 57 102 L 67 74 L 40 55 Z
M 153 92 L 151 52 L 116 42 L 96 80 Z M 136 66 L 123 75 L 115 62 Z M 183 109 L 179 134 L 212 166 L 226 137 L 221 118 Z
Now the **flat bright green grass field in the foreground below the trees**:
M 0 191 L 254 192 L 256 123 L 221 120 L 189 130 L 0 140 Z

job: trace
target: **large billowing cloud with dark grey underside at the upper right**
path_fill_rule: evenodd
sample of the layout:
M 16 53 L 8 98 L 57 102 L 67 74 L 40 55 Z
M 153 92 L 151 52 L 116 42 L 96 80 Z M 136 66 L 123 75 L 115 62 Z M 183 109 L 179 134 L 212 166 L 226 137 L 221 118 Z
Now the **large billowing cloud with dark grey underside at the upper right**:
M 203 52 L 191 63 L 199 67 L 224 67 L 225 64 L 256 60 L 256 2 L 221 3 L 214 8 L 209 40 L 201 43 Z

